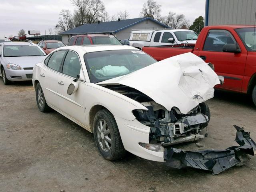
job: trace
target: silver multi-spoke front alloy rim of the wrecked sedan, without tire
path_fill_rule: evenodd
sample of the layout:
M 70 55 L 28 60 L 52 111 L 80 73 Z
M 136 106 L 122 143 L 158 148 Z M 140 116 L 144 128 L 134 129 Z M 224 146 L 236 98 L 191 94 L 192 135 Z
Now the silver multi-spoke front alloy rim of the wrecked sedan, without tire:
M 97 123 L 97 138 L 100 147 L 105 151 L 109 152 L 111 149 L 111 134 L 107 122 L 104 119 L 100 119 Z

